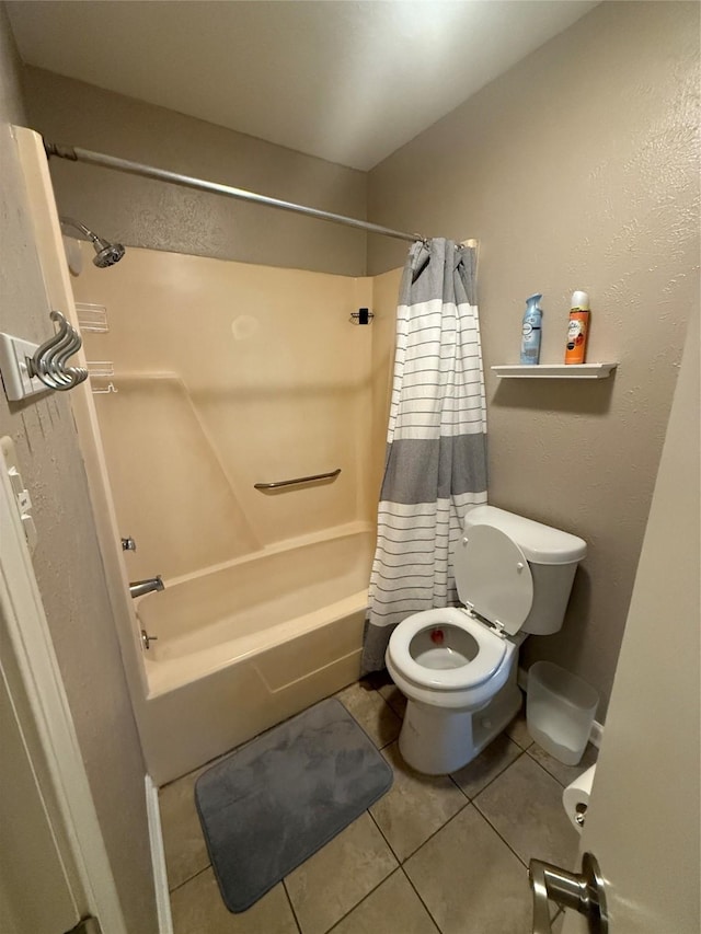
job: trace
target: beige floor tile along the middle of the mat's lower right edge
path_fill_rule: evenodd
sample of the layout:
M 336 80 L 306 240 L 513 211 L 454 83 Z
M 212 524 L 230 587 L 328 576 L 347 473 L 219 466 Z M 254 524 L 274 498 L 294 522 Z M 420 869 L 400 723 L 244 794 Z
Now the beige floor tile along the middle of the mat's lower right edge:
M 285 879 L 302 934 L 324 934 L 398 866 L 366 812 Z

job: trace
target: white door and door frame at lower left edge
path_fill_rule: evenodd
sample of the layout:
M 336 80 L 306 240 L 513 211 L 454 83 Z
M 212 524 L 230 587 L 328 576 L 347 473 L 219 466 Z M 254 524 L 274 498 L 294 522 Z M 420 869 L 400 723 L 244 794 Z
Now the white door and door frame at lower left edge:
M 0 934 L 127 934 L 0 438 Z M 22 492 L 23 491 L 23 492 Z M 19 495 L 18 495 L 19 494 Z

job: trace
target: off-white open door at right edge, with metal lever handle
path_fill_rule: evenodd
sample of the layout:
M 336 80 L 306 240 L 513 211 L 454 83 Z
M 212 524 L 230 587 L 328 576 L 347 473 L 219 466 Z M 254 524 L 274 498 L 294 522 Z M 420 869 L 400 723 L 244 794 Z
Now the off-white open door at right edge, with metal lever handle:
M 699 515 L 694 320 L 582 835 L 604 877 L 610 934 L 701 931 Z M 563 934 L 587 930 L 566 912 Z

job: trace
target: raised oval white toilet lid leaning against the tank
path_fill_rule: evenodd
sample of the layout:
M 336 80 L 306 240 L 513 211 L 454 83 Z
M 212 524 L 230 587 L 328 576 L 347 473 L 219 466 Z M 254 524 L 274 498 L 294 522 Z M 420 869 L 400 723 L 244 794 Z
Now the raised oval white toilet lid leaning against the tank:
M 533 602 L 533 578 L 516 542 L 493 526 L 473 526 L 458 542 L 453 567 L 463 603 L 515 635 Z

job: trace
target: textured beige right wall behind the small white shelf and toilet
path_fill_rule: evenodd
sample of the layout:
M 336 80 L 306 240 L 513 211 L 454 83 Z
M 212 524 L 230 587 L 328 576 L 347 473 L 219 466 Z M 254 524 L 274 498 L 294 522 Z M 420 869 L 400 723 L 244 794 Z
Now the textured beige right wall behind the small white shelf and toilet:
M 604 718 L 665 436 L 698 309 L 699 7 L 606 2 L 369 174 L 369 217 L 480 240 L 490 498 L 585 538 L 563 631 L 526 644 L 598 688 Z M 369 269 L 403 247 L 372 238 Z M 527 296 L 561 361 L 591 298 L 598 382 L 504 381 Z

